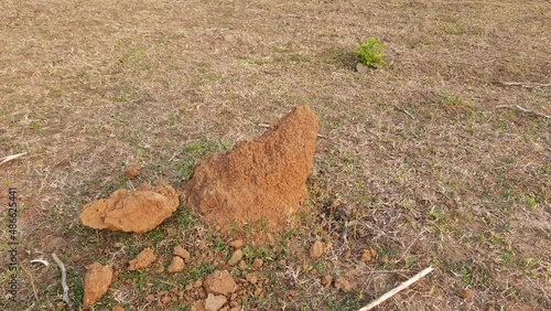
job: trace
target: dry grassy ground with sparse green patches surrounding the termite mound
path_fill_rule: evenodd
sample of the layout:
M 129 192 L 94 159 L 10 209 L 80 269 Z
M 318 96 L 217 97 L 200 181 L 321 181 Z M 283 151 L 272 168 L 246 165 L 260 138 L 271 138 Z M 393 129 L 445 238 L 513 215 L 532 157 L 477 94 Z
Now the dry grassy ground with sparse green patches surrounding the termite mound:
M 14 186 L 7 310 L 64 310 L 53 251 L 77 309 L 94 261 L 115 268 L 95 310 L 188 310 L 214 270 L 231 272 L 244 310 L 355 310 L 430 265 L 378 310 L 551 309 L 549 24 L 544 0 L 1 1 L 0 157 L 28 152 L 0 165 L 1 303 Z M 359 74 L 349 52 L 370 36 L 388 65 Z M 79 223 L 116 189 L 181 187 L 198 159 L 295 105 L 325 139 L 312 208 L 282 234 L 223 234 L 183 205 L 142 235 Z M 190 262 L 169 274 L 179 245 Z M 145 247 L 158 260 L 129 271 Z

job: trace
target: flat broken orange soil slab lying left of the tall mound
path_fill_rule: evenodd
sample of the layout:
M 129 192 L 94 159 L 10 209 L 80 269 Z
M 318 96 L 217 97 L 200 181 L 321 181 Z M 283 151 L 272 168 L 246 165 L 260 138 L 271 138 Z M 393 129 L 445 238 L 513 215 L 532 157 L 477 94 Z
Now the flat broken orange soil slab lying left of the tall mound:
M 136 191 L 119 189 L 108 199 L 84 205 L 80 221 L 96 229 L 144 233 L 169 218 L 179 204 L 176 191 L 171 185 L 151 187 L 142 184 Z

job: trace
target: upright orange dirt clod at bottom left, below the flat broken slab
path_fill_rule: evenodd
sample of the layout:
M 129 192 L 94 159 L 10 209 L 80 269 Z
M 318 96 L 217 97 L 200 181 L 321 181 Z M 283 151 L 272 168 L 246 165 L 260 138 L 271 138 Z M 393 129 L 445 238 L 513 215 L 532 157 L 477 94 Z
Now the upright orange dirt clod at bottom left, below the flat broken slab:
M 90 308 L 107 292 L 112 281 L 112 267 L 94 262 L 88 266 L 84 280 L 83 308 Z

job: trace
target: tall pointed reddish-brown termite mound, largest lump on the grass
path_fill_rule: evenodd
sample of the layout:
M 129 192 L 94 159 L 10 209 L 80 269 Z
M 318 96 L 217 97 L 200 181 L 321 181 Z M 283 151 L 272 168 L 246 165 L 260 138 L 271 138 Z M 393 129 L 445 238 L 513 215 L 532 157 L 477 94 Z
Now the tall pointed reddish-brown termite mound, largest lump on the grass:
M 187 204 L 226 228 L 261 219 L 281 228 L 303 205 L 316 138 L 315 114 L 295 107 L 260 138 L 197 164 L 184 186 Z

